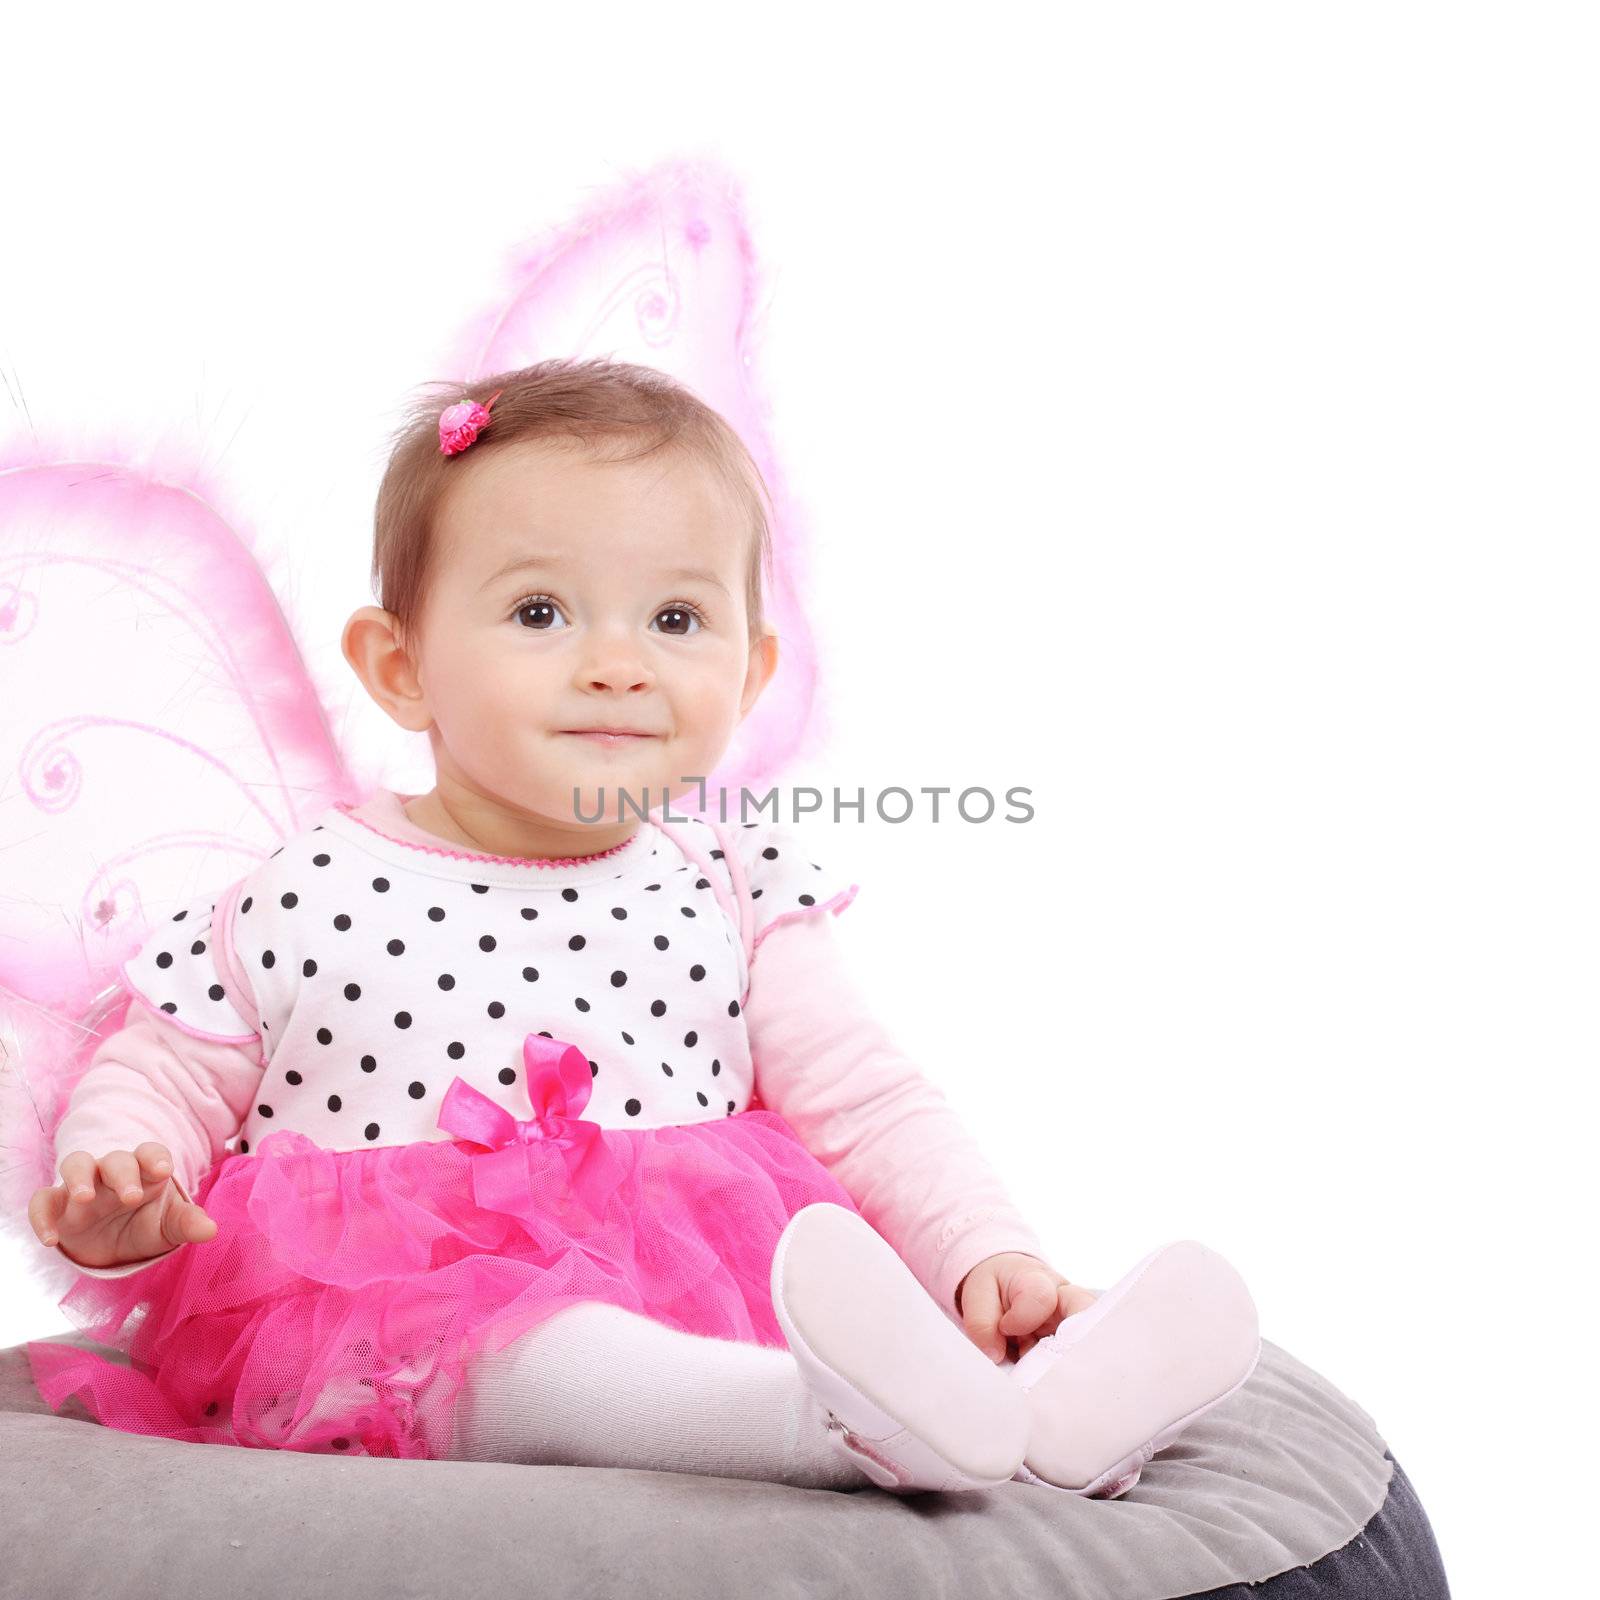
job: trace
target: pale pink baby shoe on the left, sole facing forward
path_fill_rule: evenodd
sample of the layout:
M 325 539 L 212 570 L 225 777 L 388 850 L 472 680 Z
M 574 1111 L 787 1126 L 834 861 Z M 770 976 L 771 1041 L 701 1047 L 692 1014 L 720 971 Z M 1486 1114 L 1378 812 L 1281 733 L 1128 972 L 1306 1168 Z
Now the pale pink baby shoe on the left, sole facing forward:
M 802 1206 L 773 1251 L 773 1310 L 829 1437 L 894 1493 L 1016 1477 L 1027 1395 L 933 1302 L 862 1216 Z

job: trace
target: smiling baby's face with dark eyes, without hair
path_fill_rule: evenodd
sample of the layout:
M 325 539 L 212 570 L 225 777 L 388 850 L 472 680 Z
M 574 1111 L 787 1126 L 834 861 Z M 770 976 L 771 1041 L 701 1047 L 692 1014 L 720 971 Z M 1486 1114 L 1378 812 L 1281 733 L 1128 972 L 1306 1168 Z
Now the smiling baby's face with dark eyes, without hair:
M 693 792 L 776 662 L 750 650 L 738 502 L 674 450 L 528 443 L 462 467 L 416 646 L 442 774 L 566 826 L 579 806 L 614 826 L 619 789 L 640 808 Z

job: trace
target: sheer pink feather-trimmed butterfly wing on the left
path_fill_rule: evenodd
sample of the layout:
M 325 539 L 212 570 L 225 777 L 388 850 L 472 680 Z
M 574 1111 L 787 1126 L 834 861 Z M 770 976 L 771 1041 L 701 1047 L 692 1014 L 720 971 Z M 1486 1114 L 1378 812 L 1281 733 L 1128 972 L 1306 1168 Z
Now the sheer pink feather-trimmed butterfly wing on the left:
M 197 477 L 0 467 L 0 1226 L 149 930 L 355 798 L 258 558 Z M 30 1234 L 27 1235 L 30 1237 Z

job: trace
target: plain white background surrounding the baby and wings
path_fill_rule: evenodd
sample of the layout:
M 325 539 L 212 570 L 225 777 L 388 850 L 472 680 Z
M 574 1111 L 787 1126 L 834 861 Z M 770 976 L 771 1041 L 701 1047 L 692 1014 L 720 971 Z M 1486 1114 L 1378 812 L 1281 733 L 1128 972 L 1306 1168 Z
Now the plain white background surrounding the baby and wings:
M 338 632 L 403 392 L 515 245 L 726 162 L 818 534 L 835 736 L 790 781 L 1037 808 L 811 824 L 883 1014 L 1069 1277 L 1237 1262 L 1459 1600 L 1574 1581 L 1584 8 L 570 10 L 11 16 L 3 426 L 219 464 L 382 744 Z M 6 1251 L 0 1344 L 64 1328 Z

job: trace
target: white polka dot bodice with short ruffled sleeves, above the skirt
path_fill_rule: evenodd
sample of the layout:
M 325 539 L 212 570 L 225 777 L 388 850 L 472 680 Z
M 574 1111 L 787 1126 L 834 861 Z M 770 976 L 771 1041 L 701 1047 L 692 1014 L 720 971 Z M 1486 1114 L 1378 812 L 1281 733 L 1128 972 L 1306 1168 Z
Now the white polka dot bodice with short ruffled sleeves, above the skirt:
M 542 861 L 421 834 L 402 798 L 331 806 L 123 968 L 186 1032 L 256 1042 L 240 1154 L 278 1128 L 328 1149 L 446 1139 L 438 1107 L 458 1075 L 531 1117 L 528 1034 L 584 1053 L 582 1115 L 602 1126 L 744 1110 L 755 950 L 858 888 L 792 826 L 651 819 L 614 850 Z

